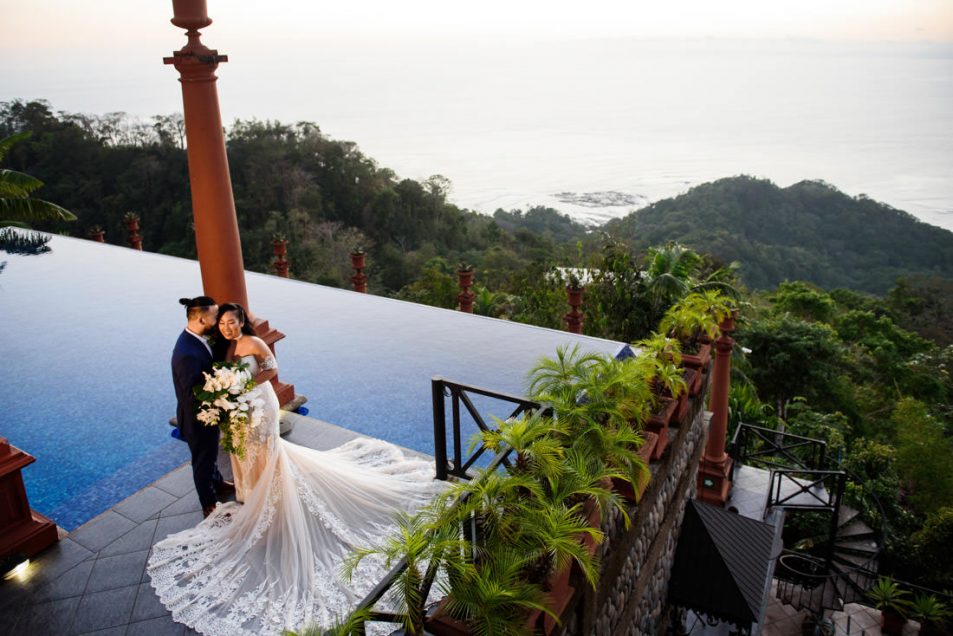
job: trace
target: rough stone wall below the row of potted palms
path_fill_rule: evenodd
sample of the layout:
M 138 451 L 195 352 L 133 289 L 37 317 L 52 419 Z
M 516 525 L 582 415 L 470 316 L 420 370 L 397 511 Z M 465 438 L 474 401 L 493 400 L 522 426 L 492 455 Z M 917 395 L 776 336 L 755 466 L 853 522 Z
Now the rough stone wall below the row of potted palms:
M 675 546 L 685 505 L 695 494 L 710 417 L 701 408 L 702 400 L 696 402 L 684 423 L 670 430 L 665 455 L 651 464 L 652 481 L 642 500 L 629 509 L 631 526 L 625 528 L 618 510 L 603 520 L 606 539 L 599 548 L 598 587 L 579 583 L 580 591 L 554 633 L 635 636 L 666 631 Z

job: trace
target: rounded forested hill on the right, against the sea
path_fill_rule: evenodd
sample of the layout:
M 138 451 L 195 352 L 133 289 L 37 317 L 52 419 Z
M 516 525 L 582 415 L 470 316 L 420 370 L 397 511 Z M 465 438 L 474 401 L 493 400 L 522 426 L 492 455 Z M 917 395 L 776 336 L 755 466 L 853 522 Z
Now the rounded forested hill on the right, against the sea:
M 636 249 L 678 241 L 740 261 L 741 278 L 758 289 L 809 280 L 884 293 L 898 276 L 953 278 L 953 232 L 818 181 L 779 188 L 751 177 L 720 179 L 606 229 Z

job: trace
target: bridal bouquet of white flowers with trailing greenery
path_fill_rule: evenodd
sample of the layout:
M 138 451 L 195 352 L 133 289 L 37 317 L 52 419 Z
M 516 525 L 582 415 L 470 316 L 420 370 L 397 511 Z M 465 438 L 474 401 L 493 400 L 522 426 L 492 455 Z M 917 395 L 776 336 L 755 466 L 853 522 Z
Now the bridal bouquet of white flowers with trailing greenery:
M 222 448 L 245 458 L 245 440 L 250 429 L 261 423 L 261 398 L 250 395 L 255 381 L 242 362 L 216 362 L 205 382 L 193 391 L 199 400 L 196 419 L 221 429 Z

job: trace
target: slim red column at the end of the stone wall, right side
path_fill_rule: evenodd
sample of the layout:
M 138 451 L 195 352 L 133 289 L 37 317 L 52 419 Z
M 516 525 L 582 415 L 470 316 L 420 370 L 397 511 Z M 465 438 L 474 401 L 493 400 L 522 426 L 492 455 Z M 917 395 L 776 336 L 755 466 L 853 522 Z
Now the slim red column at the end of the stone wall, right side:
M 723 506 L 728 499 L 731 482 L 731 458 L 725 452 L 728 433 L 728 390 L 731 379 L 731 351 L 735 341 L 731 333 L 735 330 L 734 317 L 729 316 L 721 323 L 721 336 L 715 340 L 715 370 L 711 382 L 711 423 L 708 429 L 708 442 L 705 454 L 698 467 L 698 498 L 710 504 Z

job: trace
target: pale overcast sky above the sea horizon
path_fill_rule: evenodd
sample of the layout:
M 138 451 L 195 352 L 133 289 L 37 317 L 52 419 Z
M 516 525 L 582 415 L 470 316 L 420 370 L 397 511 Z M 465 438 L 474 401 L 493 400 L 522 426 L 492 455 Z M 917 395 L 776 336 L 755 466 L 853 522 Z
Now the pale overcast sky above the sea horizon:
M 209 0 L 220 28 L 263 40 L 505 34 L 953 41 L 953 0 Z M 0 51 L 41 57 L 171 37 L 170 0 L 0 0 Z

